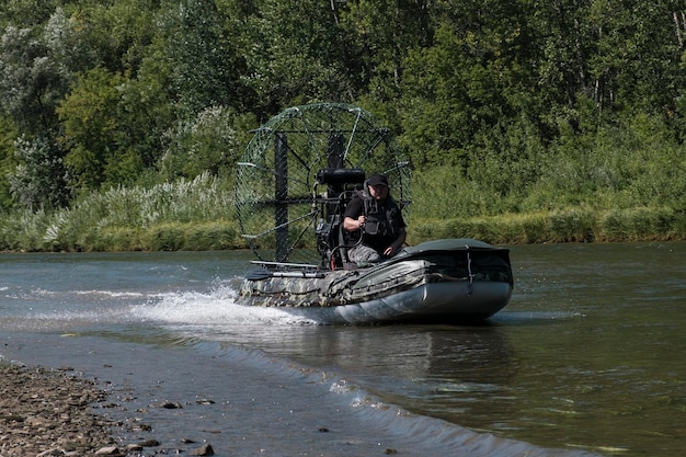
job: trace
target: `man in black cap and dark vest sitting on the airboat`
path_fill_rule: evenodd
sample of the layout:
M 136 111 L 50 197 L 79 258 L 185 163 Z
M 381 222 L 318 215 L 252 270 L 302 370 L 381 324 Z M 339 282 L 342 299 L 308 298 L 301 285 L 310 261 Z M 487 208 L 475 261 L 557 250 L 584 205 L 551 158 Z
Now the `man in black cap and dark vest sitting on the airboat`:
M 398 253 L 405 241 L 405 222 L 385 175 L 370 176 L 364 191 L 347 204 L 343 228 L 345 243 L 354 245 L 347 250 L 351 262 L 380 262 Z

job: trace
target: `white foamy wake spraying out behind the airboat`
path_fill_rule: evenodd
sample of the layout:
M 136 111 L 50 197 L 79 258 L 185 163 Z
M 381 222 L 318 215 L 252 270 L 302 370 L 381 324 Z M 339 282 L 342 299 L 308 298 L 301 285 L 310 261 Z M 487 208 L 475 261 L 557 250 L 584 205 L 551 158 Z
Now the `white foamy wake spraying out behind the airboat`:
M 216 332 L 245 325 L 315 323 L 275 308 L 237 304 L 230 282 L 202 290 L 46 290 L 11 296 L 2 306 L 0 330 L 81 332 L 110 325 L 163 327 L 168 330 Z

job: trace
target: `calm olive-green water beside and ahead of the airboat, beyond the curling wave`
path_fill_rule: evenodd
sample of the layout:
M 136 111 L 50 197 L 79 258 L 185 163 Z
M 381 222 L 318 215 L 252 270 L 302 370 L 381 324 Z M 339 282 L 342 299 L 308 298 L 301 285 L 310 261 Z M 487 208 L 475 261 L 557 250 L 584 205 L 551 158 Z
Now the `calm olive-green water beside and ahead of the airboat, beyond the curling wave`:
M 686 243 L 524 245 L 512 258 L 512 302 L 485 325 L 309 329 L 273 350 L 472 430 L 686 455 Z

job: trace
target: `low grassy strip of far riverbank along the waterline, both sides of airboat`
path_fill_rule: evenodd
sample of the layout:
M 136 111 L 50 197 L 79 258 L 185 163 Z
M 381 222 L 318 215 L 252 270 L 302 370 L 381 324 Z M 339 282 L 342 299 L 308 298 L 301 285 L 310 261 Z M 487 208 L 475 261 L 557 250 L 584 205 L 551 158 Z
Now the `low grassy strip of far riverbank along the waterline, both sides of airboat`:
M 236 220 L 169 221 L 144 226 L 70 224 L 64 214 L 0 216 L 3 252 L 219 251 L 245 248 Z M 81 221 L 83 222 L 83 221 Z M 568 208 L 449 219 L 412 218 L 408 242 L 475 238 L 491 244 L 561 242 L 637 242 L 686 240 L 686 210 L 671 207 L 630 209 Z M 312 239 L 304 239 L 304 248 Z M 313 248 L 313 247 L 310 247 Z

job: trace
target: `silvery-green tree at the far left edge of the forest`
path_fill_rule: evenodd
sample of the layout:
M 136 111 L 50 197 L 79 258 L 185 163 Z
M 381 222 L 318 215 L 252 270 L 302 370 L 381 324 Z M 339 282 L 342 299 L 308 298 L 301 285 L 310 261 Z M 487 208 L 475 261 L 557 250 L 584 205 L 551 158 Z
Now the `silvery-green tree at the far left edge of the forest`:
M 57 9 L 45 26 L 5 27 L 0 45 L 2 110 L 21 135 L 15 146 L 20 164 L 10 184 L 12 195 L 31 208 L 68 201 L 55 108 L 82 56 L 71 25 Z

